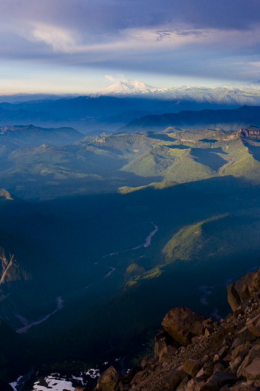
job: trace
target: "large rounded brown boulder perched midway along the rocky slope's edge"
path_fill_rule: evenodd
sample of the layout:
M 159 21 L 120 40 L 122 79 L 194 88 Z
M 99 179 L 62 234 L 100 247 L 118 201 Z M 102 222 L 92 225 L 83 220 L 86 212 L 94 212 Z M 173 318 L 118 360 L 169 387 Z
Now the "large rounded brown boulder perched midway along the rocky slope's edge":
M 181 345 L 191 344 L 193 337 L 203 333 L 204 318 L 197 311 L 181 306 L 171 309 L 161 326 Z

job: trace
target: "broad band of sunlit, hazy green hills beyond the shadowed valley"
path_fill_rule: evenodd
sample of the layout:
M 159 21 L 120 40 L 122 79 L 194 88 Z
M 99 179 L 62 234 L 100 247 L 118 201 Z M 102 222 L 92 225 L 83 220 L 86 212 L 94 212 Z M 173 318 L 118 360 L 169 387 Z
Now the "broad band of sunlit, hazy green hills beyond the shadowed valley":
M 18 147 L 6 139 L 2 187 L 27 199 L 118 192 L 153 182 L 184 183 L 222 175 L 247 175 L 254 181 L 259 177 L 260 140 L 219 129 L 102 133 L 60 147 Z

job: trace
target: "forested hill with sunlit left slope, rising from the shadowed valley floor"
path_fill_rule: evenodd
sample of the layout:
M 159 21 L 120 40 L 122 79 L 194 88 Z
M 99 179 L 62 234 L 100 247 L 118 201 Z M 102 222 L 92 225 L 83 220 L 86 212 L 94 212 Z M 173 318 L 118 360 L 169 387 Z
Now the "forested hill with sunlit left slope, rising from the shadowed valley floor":
M 260 219 L 224 215 L 183 227 L 163 247 L 166 262 L 220 261 L 246 251 L 258 251 Z

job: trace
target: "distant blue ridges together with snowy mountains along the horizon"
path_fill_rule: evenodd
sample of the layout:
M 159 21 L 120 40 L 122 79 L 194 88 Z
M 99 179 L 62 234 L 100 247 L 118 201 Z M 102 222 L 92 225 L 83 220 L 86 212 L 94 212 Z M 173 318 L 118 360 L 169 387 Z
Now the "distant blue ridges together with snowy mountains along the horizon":
M 130 80 L 119 81 L 97 94 L 87 96 L 0 96 L 0 126 L 32 124 L 42 128 L 72 127 L 82 133 L 98 134 L 102 131 L 114 132 L 147 115 L 177 114 L 182 110 L 238 109 L 245 105 L 260 105 L 260 82 L 210 88 L 155 88 L 138 80 Z M 201 111 L 196 114 L 197 124 L 208 123 L 201 120 L 204 115 L 205 112 Z M 259 124 L 250 118 L 245 124 Z M 182 124 L 188 125 L 185 118 L 184 122 L 180 122 Z M 124 131 L 132 130 L 126 127 Z

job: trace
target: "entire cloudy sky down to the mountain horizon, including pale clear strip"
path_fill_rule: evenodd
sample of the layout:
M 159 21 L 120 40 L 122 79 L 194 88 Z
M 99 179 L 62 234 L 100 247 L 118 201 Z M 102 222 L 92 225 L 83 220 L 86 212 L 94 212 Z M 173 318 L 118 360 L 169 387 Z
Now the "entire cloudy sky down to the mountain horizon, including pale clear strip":
M 260 80 L 259 0 L 0 0 L 0 95 Z

